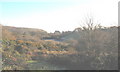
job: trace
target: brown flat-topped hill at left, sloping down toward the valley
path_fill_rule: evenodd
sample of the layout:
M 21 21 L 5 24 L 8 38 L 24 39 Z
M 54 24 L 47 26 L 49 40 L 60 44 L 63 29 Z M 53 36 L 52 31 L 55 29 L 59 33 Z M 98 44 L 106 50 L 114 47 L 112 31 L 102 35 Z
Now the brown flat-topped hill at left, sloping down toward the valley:
M 11 26 L 2 26 L 3 36 L 5 32 L 9 35 L 14 36 L 17 40 L 40 40 L 42 37 L 48 36 L 48 33 L 41 29 L 34 28 L 20 28 Z M 7 36 L 9 36 L 7 35 Z

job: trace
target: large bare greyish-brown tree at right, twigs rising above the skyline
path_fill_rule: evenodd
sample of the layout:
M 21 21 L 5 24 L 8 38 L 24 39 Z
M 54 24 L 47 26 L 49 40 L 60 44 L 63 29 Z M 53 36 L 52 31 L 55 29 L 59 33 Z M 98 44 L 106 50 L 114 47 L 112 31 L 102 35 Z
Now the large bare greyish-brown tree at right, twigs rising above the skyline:
M 93 57 L 90 65 L 94 69 L 117 69 L 117 30 L 111 32 L 113 30 L 103 29 L 100 24 L 94 22 L 92 17 L 88 17 L 81 28 L 77 47 L 79 51 L 84 51 L 89 58 Z M 115 63 L 112 63 L 113 61 Z

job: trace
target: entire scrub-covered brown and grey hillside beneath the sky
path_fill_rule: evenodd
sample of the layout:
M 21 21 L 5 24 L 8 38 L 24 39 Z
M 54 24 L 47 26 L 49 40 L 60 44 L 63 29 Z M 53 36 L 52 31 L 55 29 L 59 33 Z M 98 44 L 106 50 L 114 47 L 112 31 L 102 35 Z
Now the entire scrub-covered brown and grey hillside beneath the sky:
M 2 26 L 3 70 L 114 70 L 118 27 L 47 33 Z

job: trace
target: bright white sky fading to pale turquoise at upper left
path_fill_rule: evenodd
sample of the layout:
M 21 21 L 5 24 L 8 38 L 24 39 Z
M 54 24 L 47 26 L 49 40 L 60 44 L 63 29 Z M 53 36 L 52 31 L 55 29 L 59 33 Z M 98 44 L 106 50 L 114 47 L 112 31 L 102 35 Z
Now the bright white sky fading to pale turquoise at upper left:
M 95 24 L 118 25 L 119 0 L 0 0 L 0 23 L 39 28 L 47 32 L 72 31 L 92 17 Z

